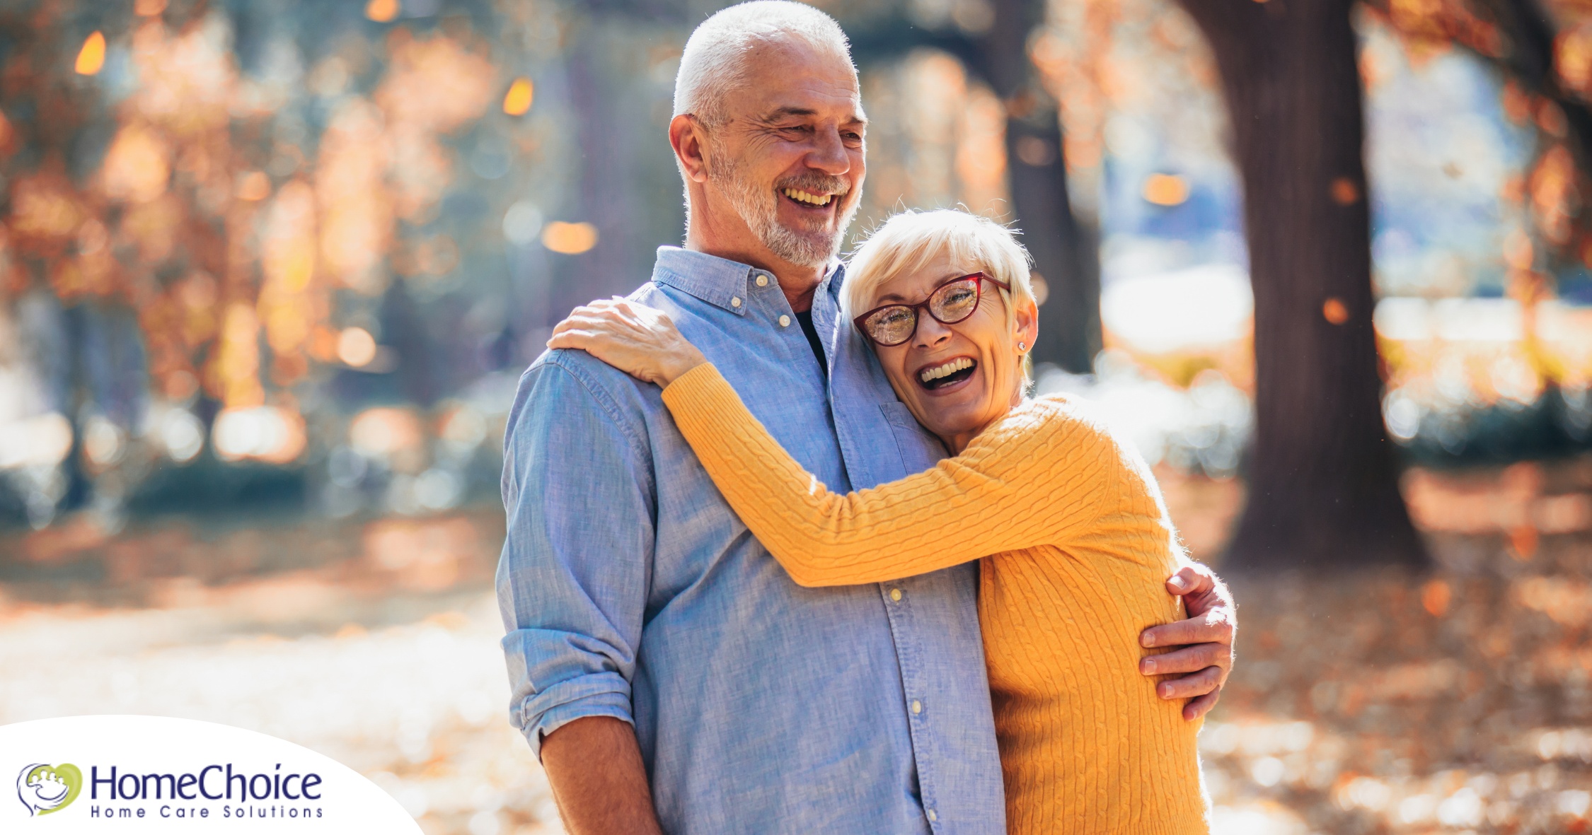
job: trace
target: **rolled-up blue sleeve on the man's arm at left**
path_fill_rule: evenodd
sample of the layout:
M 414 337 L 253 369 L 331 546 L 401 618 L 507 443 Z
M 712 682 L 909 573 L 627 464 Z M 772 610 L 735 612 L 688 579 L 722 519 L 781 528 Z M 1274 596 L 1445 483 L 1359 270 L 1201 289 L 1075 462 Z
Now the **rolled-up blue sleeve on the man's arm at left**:
M 562 351 L 521 379 L 503 441 L 497 596 L 509 719 L 538 755 L 543 736 L 575 719 L 635 724 L 654 530 L 643 433 Z

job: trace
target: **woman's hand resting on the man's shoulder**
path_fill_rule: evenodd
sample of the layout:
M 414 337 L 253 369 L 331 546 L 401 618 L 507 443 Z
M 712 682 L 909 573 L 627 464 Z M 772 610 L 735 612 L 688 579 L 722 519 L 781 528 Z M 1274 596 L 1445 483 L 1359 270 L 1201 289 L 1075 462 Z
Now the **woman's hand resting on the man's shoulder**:
M 552 328 L 548 347 L 583 350 L 638 380 L 657 385 L 669 385 L 707 363 L 667 313 L 618 297 L 576 307 Z

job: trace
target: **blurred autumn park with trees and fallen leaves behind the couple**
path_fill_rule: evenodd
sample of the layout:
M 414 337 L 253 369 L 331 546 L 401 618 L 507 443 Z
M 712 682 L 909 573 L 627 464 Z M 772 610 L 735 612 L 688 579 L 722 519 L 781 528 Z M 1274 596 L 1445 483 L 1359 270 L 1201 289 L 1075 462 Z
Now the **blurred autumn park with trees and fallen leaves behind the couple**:
M 428 833 L 559 832 L 505 716 L 503 418 L 678 243 L 721 5 L 0 3 L 0 722 L 226 722 Z M 1592 6 L 817 5 L 853 234 L 1022 227 L 1038 388 L 1237 588 L 1216 830 L 1587 830 Z

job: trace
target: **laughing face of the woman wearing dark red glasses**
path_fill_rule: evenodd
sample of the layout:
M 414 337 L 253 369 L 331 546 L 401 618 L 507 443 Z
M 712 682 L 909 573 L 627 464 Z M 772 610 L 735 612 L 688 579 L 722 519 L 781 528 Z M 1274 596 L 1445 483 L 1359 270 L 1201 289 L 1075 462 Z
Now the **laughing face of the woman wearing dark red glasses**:
M 919 304 L 939 285 L 982 270 L 981 264 L 941 254 L 919 270 L 880 282 L 868 309 Z M 1000 288 L 984 282 L 971 317 L 946 324 L 920 309 L 912 339 L 874 345 L 896 396 L 954 453 L 1022 399 L 1022 355 L 1033 345 L 1038 310 L 1028 305 L 1014 313 L 1008 323 Z

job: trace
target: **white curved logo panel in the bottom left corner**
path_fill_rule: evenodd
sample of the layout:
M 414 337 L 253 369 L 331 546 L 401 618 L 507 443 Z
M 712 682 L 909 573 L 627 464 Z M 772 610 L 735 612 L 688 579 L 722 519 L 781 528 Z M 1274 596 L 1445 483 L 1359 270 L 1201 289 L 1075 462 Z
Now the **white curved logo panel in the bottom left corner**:
M 392 795 L 331 757 L 162 716 L 0 725 L 0 792 L 6 835 L 420 832 Z

